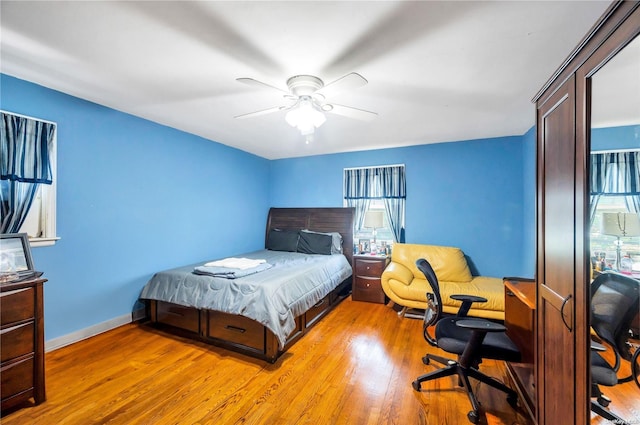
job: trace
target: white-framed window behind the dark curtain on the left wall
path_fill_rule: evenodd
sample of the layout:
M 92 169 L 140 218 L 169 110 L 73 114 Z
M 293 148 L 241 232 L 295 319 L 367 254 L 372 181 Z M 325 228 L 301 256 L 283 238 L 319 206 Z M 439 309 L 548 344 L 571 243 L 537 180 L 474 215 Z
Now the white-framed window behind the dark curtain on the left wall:
M 28 120 L 40 121 L 53 125 L 53 135 L 49 144 L 49 167 L 51 184 L 39 184 L 37 192 L 22 223 L 19 233 L 27 233 L 31 246 L 53 245 L 59 238 L 56 235 L 56 183 L 57 183 L 57 125 L 50 121 L 27 117 L 11 112 L 1 111 L 3 115 L 13 115 Z M 4 137 L 4 136 L 3 136 Z M 0 180 L 2 199 L 9 198 L 9 181 Z

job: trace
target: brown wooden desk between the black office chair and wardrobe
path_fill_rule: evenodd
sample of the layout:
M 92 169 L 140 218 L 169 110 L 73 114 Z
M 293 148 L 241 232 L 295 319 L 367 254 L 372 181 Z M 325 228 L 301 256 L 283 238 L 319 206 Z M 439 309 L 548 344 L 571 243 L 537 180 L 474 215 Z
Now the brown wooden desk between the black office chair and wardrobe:
M 504 324 L 507 335 L 522 353 L 521 363 L 507 362 L 507 371 L 535 420 L 535 314 L 536 284 L 532 279 L 504 278 Z

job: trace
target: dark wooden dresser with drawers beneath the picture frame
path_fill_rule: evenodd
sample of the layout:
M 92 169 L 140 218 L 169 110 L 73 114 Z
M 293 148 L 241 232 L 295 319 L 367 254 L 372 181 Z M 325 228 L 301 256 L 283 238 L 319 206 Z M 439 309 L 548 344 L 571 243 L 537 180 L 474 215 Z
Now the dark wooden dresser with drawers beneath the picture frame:
M 37 278 L 0 284 L 2 411 L 45 400 L 43 284 Z

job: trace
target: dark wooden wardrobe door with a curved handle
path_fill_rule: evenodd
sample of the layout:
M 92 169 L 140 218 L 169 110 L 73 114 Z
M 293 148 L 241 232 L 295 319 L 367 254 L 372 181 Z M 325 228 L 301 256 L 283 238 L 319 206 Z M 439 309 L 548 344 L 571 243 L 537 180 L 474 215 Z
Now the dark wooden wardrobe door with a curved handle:
M 538 105 L 537 361 L 538 424 L 587 423 L 582 396 L 588 382 L 579 320 L 584 303 L 580 150 L 576 84 L 570 76 Z M 571 410 L 573 408 L 573 410 Z

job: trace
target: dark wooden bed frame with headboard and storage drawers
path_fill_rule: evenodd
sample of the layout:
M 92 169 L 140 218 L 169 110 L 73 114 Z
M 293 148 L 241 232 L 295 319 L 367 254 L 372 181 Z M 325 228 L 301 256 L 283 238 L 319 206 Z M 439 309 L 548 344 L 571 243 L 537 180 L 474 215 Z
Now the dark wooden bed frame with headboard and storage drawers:
M 267 218 L 265 247 L 271 229 L 309 229 L 339 232 L 349 264 L 353 264 L 353 208 L 271 208 Z M 276 336 L 264 325 L 244 316 L 215 310 L 184 307 L 149 300 L 147 317 L 162 330 L 204 341 L 274 363 L 307 331 L 351 292 L 351 277 L 305 313 L 296 317 L 296 328 L 282 350 Z

